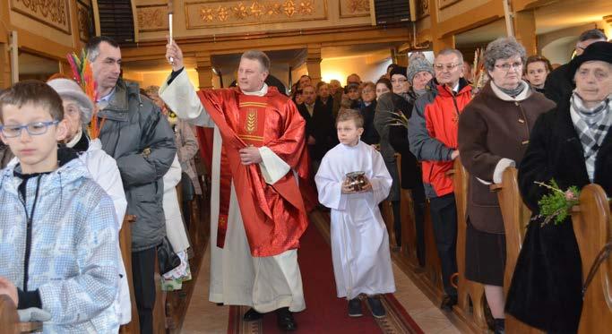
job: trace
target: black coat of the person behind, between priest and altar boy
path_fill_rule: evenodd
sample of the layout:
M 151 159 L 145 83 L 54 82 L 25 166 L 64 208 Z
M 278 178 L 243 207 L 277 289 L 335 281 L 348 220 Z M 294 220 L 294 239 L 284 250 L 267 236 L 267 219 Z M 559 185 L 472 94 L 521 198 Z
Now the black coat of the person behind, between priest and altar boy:
M 308 136 L 315 138 L 315 145 L 308 145 L 310 158 L 321 160 L 325 153 L 332 149 L 338 141 L 332 113 L 321 101 L 315 102 L 313 116 L 308 113 L 306 103 L 297 106 L 297 110 L 306 121 L 306 142 L 308 142 Z

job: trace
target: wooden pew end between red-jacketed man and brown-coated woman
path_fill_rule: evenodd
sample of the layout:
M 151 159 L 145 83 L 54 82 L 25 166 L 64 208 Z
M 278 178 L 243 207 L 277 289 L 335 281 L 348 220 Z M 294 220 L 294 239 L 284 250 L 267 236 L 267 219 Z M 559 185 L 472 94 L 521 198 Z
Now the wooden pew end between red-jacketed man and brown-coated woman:
M 455 201 L 457 203 L 457 269 L 459 275 L 457 279 L 458 307 L 456 311 L 462 318 L 472 322 L 477 330 L 487 332 L 485 288 L 482 284 L 465 278 L 465 237 L 470 175 L 458 158 L 454 161 L 453 169 L 446 175 L 453 176 Z

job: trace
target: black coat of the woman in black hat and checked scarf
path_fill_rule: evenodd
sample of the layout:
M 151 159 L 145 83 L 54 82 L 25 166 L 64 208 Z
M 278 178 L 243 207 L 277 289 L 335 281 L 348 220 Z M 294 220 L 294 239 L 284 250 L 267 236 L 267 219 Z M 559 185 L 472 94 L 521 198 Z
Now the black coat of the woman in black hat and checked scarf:
M 539 117 L 530 144 L 519 167 L 523 201 L 534 215 L 538 201 L 549 192 L 534 184 L 555 178 L 562 189 L 590 183 L 584 165 L 582 143 L 569 111 L 569 100 Z M 595 163 L 595 183 L 612 193 L 612 132 L 608 132 Z M 534 327 L 556 332 L 575 332 L 582 309 L 582 263 L 573 234 L 572 221 L 540 227 L 541 219 L 530 222 L 506 310 Z M 588 263 L 587 265 L 590 265 Z

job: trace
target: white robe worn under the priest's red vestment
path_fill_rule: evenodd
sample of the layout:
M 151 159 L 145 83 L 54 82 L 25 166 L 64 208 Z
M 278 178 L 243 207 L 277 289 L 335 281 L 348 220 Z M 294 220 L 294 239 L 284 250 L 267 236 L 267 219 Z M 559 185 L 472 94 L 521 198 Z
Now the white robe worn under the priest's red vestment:
M 268 90 L 253 95 L 263 96 Z M 248 94 L 248 93 L 245 93 Z M 260 313 L 289 307 L 291 312 L 306 308 L 302 277 L 297 266 L 297 250 L 270 257 L 253 257 L 246 240 L 245 227 L 238 207 L 234 184 L 228 210 L 228 230 L 224 248 L 217 247 L 217 224 L 220 209 L 220 156 L 222 139 L 219 128 L 206 113 L 185 70 L 170 85 L 164 83 L 159 97 L 181 119 L 191 124 L 213 127 L 211 170 L 211 287 L 209 300 L 226 305 L 252 306 Z M 263 161 L 259 164 L 266 183 L 274 184 L 290 171 L 290 167 L 272 150 L 259 149 Z

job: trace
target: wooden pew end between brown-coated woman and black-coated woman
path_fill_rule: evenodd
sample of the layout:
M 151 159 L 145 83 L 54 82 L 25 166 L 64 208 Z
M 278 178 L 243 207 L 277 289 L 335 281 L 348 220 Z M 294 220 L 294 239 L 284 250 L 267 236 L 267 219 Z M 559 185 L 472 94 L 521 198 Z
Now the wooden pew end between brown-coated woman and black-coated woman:
M 531 211 L 523 203 L 519 192 L 518 171 L 514 167 L 506 168 L 501 184 L 491 184 L 491 191 L 497 193 L 499 207 L 504 218 L 505 231 L 505 270 L 504 295 L 513 278 L 516 261 L 521 253 L 521 245 L 527 224 L 530 221 Z M 506 314 L 505 330 L 507 333 L 542 333 L 529 325 L 516 320 L 512 315 Z

